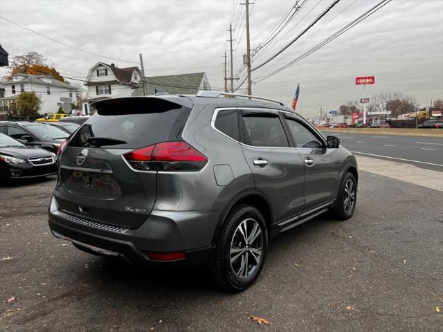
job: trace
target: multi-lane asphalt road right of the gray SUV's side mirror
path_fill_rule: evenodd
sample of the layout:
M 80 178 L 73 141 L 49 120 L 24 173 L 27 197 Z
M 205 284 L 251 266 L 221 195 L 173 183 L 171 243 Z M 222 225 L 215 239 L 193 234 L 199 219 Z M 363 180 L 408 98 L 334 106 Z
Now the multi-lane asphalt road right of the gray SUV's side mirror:
M 382 158 L 443 172 L 443 139 L 424 136 L 378 135 L 322 131 L 338 136 L 354 154 Z

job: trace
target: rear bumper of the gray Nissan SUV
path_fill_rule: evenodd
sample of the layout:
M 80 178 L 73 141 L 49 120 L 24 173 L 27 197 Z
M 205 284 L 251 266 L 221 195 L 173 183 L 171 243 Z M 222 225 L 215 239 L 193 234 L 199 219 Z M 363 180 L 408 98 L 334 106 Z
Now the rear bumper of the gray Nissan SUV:
M 148 218 L 140 228 L 127 230 L 102 226 L 96 222 L 74 217 L 67 219 L 51 201 L 49 228 L 55 237 L 71 241 L 102 255 L 122 257 L 134 264 L 154 267 L 195 266 L 206 264 L 212 255 L 213 246 L 189 248 L 190 239 L 183 239 L 183 230 L 170 219 Z M 87 222 L 82 222 L 86 220 Z M 197 228 L 195 232 L 199 232 Z M 213 234 L 208 234 L 209 239 Z M 155 238 L 154 238 L 155 237 Z M 185 252 L 186 258 L 176 261 L 156 261 L 150 259 L 147 252 Z

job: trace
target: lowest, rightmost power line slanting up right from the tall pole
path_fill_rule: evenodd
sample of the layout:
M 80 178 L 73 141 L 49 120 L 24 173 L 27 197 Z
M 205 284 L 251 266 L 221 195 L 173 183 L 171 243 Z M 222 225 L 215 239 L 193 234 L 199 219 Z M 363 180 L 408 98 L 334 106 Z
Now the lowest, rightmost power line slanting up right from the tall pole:
M 350 30 L 351 28 L 353 28 L 354 26 L 356 26 L 357 24 L 359 24 L 361 21 L 363 21 L 364 19 L 367 19 L 368 17 L 370 17 L 371 15 L 373 15 L 375 12 L 377 12 L 378 10 L 380 10 L 381 8 L 383 8 L 384 6 L 386 6 L 388 3 L 390 3 L 390 1 L 392 0 L 382 0 L 379 3 L 377 3 L 377 5 L 375 5 L 374 7 L 370 8 L 370 10 L 366 11 L 365 13 L 363 13 L 362 15 L 360 15 L 359 17 L 357 17 L 356 19 L 354 19 L 352 22 L 350 22 L 349 24 L 347 24 L 346 26 L 344 26 L 343 28 L 341 28 L 340 30 L 336 31 L 336 33 L 330 35 L 329 37 L 327 37 L 326 39 L 323 39 L 322 42 L 318 43 L 316 46 L 314 46 L 313 48 L 307 50 L 307 52 L 303 53 L 302 55 L 300 55 L 299 57 L 297 57 L 296 59 L 293 59 L 291 62 L 289 62 L 288 64 L 285 64 L 284 66 L 281 66 L 280 68 L 278 68 L 277 70 L 273 71 L 272 73 L 269 73 L 267 75 L 264 75 L 263 77 L 259 77 L 257 79 L 257 81 L 255 81 L 255 84 L 257 84 L 258 82 L 262 82 L 263 80 L 266 80 L 266 78 L 269 78 L 277 73 L 280 73 L 280 71 L 283 71 L 284 69 L 288 68 L 289 66 L 292 66 L 293 64 L 296 64 L 297 62 L 299 62 L 300 60 L 304 59 L 305 57 L 311 55 L 312 53 L 316 52 L 316 50 L 319 50 L 320 48 L 322 48 L 323 46 L 329 44 L 330 42 L 332 42 L 334 39 L 338 38 L 339 36 L 343 35 L 343 33 L 345 33 L 347 30 Z

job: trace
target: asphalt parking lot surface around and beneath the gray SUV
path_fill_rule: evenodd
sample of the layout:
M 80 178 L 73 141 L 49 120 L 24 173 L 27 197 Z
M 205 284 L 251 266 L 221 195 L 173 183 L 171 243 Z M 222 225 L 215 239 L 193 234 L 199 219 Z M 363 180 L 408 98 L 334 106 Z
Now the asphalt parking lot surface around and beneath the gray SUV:
M 204 268 L 141 272 L 55 239 L 54 185 L 0 187 L 0 331 L 443 331 L 443 192 L 361 172 L 352 219 L 276 237 L 231 294 Z

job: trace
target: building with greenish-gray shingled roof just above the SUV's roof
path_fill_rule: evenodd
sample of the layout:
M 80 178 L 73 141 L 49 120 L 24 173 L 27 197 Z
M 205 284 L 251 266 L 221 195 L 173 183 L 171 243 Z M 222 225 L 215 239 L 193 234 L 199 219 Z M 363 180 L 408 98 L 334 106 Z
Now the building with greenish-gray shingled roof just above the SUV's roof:
M 202 90 L 210 90 L 206 73 L 190 73 L 179 75 L 145 77 L 137 89 L 132 91 L 133 96 L 154 95 L 155 89 L 161 89 L 170 95 L 195 95 Z

